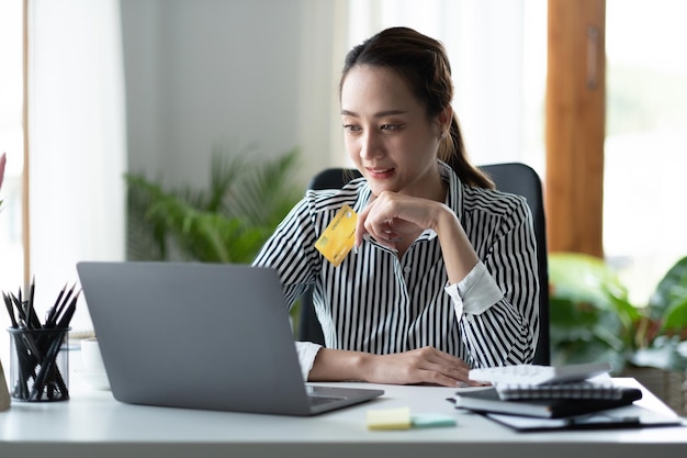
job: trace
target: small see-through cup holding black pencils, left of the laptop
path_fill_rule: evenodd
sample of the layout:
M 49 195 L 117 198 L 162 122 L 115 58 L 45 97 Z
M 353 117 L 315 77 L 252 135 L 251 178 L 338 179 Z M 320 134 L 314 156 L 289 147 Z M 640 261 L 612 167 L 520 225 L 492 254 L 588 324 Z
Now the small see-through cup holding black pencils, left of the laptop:
M 69 399 L 69 350 L 64 329 L 22 329 L 10 333 L 10 395 L 15 401 L 50 402 Z

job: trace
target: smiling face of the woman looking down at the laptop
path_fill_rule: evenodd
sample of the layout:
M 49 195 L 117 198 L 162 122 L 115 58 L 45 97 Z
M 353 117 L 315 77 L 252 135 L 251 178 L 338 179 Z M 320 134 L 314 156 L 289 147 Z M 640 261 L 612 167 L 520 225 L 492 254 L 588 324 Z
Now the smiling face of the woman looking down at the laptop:
M 428 119 L 404 79 L 376 66 L 354 66 L 341 86 L 344 142 L 372 193 L 431 198 L 440 186 L 437 150 L 451 114 Z

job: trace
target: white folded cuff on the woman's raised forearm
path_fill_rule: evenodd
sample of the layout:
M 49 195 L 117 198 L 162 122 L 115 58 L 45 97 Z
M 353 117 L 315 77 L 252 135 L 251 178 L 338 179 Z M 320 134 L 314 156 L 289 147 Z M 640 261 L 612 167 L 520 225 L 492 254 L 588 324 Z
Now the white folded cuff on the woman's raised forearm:
M 482 261 L 478 261 L 463 280 L 448 284 L 444 291 L 453 300 L 458 320 L 463 313 L 478 315 L 504 297 L 496 280 Z

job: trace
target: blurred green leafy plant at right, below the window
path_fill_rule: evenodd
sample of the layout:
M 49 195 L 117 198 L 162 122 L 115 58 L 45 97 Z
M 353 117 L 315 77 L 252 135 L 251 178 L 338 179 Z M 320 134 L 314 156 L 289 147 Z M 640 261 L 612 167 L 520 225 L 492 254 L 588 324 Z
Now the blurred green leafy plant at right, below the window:
M 616 375 L 640 379 L 684 411 L 687 257 L 675 262 L 647 303 L 639 305 L 604 259 L 552 253 L 549 269 L 552 362 L 609 361 Z M 668 400 L 665 391 L 678 399 Z

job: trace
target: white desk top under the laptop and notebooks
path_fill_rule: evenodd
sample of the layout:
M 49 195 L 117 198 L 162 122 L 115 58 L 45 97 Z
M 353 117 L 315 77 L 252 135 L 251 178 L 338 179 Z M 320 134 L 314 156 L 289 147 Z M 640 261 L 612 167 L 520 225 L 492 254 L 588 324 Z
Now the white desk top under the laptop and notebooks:
M 86 387 L 71 373 L 69 401 L 15 402 L 0 413 L 0 457 L 675 458 L 687 454 L 686 427 L 516 433 L 454 410 L 446 401 L 453 389 L 382 388 L 386 394 L 370 403 L 302 418 L 128 405 L 109 391 Z M 667 410 L 649 392 L 641 402 Z M 367 429 L 368 410 L 397 406 L 409 406 L 413 413 L 449 413 L 458 425 Z

